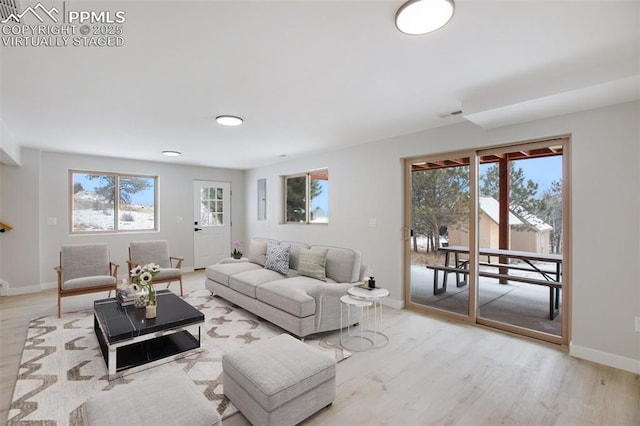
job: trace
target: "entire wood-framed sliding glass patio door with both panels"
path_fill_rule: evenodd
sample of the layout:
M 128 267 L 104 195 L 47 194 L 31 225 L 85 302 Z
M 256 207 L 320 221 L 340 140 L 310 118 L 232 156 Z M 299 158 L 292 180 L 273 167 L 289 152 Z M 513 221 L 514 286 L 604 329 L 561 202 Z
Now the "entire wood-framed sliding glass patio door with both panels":
M 568 148 L 407 160 L 406 305 L 566 343 Z

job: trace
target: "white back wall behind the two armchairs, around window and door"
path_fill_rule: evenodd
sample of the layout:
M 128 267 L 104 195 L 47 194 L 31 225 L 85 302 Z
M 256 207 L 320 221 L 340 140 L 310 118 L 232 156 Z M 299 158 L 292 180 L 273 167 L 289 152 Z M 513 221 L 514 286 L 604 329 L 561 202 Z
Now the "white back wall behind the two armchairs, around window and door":
M 157 175 L 159 231 L 69 234 L 69 169 Z M 19 294 L 55 286 L 53 268 L 59 263 L 62 244 L 108 243 L 111 259 L 120 264 L 124 277 L 129 241 L 166 239 L 172 255 L 184 256 L 183 267 L 193 268 L 193 181 L 196 179 L 231 182 L 234 224 L 231 238 L 242 240 L 245 196 L 244 172 L 241 170 L 23 149 L 22 166 L 4 167 L 3 170 L 3 221 L 14 227 L 0 239 L 3 254 L 0 279 L 8 282 L 5 292 Z M 179 216 L 183 218 L 182 222 L 178 222 Z M 56 218 L 57 224 L 48 225 L 47 218 Z

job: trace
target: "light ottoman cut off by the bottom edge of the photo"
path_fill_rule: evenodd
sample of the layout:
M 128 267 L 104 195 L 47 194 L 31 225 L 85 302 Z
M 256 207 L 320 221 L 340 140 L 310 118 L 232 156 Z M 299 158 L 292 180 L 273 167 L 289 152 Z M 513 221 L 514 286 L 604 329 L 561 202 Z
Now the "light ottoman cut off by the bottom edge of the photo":
M 215 406 L 185 373 L 159 373 L 118 385 L 82 407 L 84 426 L 220 426 Z

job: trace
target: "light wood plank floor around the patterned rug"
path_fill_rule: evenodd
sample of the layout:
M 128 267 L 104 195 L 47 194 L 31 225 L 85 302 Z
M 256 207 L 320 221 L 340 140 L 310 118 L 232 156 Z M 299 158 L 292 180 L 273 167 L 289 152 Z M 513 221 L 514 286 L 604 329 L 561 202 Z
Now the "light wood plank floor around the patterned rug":
M 203 288 L 201 271 L 185 291 Z M 176 291 L 175 284 L 172 285 Z M 63 299 L 63 312 L 92 297 Z M 100 296 L 100 295 L 98 295 Z M 0 297 L 0 422 L 6 422 L 29 320 L 56 295 Z M 390 343 L 338 364 L 337 395 L 307 425 L 640 425 L 640 376 L 570 357 L 559 346 L 384 310 Z M 337 333 L 328 334 L 332 341 Z M 240 414 L 225 425 L 248 424 Z

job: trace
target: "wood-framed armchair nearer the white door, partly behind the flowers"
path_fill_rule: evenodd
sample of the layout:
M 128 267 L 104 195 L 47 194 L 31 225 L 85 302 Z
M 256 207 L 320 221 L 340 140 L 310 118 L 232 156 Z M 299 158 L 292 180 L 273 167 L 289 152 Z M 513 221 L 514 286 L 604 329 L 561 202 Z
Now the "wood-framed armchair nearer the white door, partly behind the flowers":
M 129 243 L 129 274 L 136 266 L 144 266 L 147 263 L 157 263 L 160 272 L 153 277 L 153 283 L 167 283 L 167 288 L 174 281 L 180 282 L 180 296 L 182 293 L 182 261 L 183 257 L 169 256 L 169 242 L 157 241 L 132 241 Z

